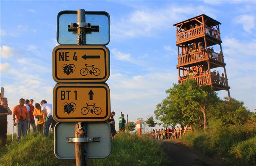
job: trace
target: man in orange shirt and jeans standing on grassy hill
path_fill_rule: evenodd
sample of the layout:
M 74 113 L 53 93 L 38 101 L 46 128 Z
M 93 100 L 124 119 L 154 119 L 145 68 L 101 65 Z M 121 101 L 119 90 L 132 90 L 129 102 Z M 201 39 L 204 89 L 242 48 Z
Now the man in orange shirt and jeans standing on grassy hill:
M 30 121 L 30 116 L 26 106 L 24 106 L 25 99 L 19 100 L 19 105 L 13 108 L 13 125 L 17 125 L 18 137 L 17 141 L 20 141 L 20 133 L 27 135 L 27 123 Z M 16 120 L 16 122 L 15 122 Z

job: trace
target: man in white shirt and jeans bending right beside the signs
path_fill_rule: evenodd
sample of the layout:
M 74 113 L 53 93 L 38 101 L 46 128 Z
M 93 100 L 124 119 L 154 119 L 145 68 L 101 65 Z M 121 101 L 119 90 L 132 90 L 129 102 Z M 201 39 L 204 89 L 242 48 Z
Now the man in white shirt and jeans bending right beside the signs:
M 47 103 L 45 100 L 41 101 L 41 110 L 43 112 L 43 119 L 45 122 L 44 135 L 48 136 L 51 124 L 55 126 L 56 121 L 52 117 L 52 104 Z

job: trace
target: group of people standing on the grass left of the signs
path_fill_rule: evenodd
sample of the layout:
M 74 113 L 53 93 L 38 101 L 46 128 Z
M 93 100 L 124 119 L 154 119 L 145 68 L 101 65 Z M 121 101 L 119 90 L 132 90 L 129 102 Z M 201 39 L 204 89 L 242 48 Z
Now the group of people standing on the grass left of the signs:
M 30 132 L 30 128 L 35 132 L 43 132 L 45 136 L 49 133 L 49 128 L 54 128 L 57 123 L 52 117 L 52 104 L 41 101 L 35 103 L 33 106 L 33 99 L 19 99 L 19 104 L 13 108 L 13 111 L 8 106 L 8 99 L 1 98 L 0 104 L 0 138 L 2 139 L 2 146 L 6 146 L 7 138 L 7 115 L 13 115 L 13 126 L 17 128 L 17 141 L 20 137 L 26 136 Z M 35 119 L 37 119 L 37 126 Z M 44 129 L 44 130 L 43 130 Z

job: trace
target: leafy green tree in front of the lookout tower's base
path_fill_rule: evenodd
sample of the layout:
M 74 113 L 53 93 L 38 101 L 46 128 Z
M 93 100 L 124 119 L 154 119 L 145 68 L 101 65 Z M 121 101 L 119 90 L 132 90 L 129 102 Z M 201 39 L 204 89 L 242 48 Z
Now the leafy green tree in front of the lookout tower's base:
M 155 115 L 157 119 L 171 125 L 202 123 L 206 128 L 207 107 L 219 101 L 210 86 L 200 86 L 193 79 L 173 84 L 173 88 L 166 93 L 168 97 L 156 106 Z

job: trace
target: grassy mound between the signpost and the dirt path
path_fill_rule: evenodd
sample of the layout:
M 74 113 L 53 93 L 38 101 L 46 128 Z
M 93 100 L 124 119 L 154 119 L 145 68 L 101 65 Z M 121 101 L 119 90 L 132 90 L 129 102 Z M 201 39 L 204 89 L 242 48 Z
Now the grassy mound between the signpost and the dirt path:
M 158 142 L 147 135 L 119 133 L 112 142 L 112 150 L 105 159 L 88 161 L 93 166 L 165 166 L 167 159 Z

